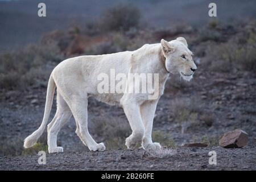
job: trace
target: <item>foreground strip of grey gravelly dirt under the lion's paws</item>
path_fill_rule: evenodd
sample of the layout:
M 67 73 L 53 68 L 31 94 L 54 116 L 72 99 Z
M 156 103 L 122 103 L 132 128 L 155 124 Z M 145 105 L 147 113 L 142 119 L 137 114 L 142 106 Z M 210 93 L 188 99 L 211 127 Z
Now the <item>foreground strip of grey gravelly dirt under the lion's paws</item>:
M 209 151 L 216 151 L 217 164 L 209 164 Z M 242 149 L 176 148 L 165 158 L 147 156 L 142 149 L 105 152 L 47 154 L 46 164 L 37 155 L 0 158 L 1 170 L 255 170 L 256 147 Z

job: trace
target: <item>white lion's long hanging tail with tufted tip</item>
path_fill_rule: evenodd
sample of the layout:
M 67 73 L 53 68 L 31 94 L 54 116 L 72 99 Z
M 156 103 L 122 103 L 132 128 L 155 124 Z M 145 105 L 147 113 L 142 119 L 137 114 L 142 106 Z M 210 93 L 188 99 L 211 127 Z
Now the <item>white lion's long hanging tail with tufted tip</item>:
M 34 131 L 31 135 L 29 135 L 26 139 L 24 139 L 24 148 L 30 148 L 34 146 L 39 137 L 43 134 L 44 129 L 46 128 L 49 114 L 51 113 L 52 108 L 52 100 L 55 92 L 55 82 L 52 78 L 52 75 L 49 77 L 48 86 L 47 86 L 47 94 L 46 94 L 46 106 L 44 107 L 44 118 L 43 122 L 40 125 L 39 129 Z

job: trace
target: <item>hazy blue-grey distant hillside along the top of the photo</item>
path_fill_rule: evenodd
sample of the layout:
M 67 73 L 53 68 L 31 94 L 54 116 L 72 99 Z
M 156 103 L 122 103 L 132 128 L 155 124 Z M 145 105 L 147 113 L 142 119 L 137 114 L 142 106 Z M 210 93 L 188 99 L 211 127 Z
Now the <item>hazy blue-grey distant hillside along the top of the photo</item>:
M 37 15 L 38 3 L 47 6 L 47 17 Z M 35 42 L 45 32 L 67 28 L 72 24 L 83 26 L 98 18 L 109 7 L 128 3 L 138 7 L 148 26 L 171 26 L 189 23 L 198 26 L 209 21 L 207 0 L 0 0 L 0 52 Z M 216 2 L 216 1 L 215 1 Z M 222 21 L 255 18 L 256 1 L 217 1 L 217 16 Z

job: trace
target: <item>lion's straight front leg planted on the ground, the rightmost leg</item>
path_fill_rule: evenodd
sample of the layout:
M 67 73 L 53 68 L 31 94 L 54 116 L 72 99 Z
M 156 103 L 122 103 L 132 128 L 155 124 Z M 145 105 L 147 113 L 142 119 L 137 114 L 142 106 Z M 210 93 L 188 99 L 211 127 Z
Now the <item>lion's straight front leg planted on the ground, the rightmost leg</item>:
M 142 147 L 145 150 L 158 150 L 161 148 L 159 143 L 152 142 L 152 126 L 158 100 L 149 100 L 141 105 L 141 116 L 145 126 L 145 133 L 142 140 Z

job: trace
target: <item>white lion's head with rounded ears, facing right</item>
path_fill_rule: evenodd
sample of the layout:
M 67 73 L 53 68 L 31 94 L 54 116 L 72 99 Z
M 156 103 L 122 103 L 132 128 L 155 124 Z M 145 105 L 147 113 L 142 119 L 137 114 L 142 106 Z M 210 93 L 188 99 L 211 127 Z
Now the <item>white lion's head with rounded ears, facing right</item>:
M 188 49 L 187 41 L 181 37 L 171 42 L 162 39 L 161 47 L 166 58 L 167 71 L 179 73 L 184 80 L 190 81 L 196 71 L 196 64 L 192 59 L 192 52 Z

